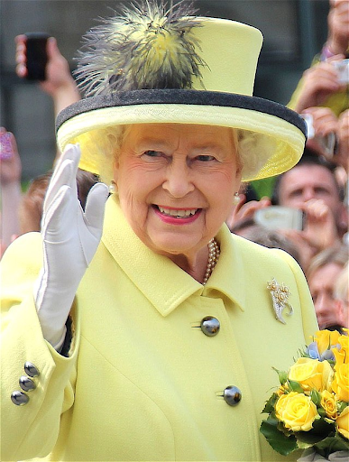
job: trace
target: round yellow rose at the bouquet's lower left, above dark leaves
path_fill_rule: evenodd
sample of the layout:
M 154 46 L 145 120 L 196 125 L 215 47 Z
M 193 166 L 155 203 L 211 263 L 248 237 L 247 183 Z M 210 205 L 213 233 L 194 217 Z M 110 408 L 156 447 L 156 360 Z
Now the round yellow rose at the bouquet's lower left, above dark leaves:
M 283 394 L 276 402 L 275 411 L 276 417 L 292 431 L 312 429 L 317 417 L 317 406 L 303 393 Z

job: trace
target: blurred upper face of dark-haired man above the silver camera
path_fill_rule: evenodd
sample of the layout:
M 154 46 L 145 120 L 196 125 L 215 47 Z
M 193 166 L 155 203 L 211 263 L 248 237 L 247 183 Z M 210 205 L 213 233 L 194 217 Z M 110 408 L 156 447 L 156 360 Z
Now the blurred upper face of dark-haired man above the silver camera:
M 332 173 L 320 165 L 299 165 L 280 182 L 280 206 L 301 208 L 310 199 L 322 199 L 336 214 L 341 208 Z

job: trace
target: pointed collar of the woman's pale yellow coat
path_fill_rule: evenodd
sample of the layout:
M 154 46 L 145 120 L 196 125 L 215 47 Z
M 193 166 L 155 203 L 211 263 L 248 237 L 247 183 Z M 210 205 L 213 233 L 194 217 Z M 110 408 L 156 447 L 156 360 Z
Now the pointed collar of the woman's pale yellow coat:
M 170 314 L 191 295 L 210 297 L 216 291 L 243 309 L 243 262 L 234 237 L 227 226 L 222 226 L 216 236 L 221 255 L 207 285 L 203 286 L 169 258 L 154 254 L 142 243 L 127 223 L 115 196 L 106 203 L 102 242 L 162 316 Z

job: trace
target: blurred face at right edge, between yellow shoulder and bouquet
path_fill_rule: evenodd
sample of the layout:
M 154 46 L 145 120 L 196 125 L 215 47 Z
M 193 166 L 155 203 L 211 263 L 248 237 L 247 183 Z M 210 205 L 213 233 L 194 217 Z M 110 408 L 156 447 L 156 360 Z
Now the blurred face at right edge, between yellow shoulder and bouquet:
M 334 286 L 342 267 L 336 263 L 327 263 L 311 274 L 308 279 L 313 297 L 319 328 L 335 324 L 344 325 L 342 310 L 335 302 Z

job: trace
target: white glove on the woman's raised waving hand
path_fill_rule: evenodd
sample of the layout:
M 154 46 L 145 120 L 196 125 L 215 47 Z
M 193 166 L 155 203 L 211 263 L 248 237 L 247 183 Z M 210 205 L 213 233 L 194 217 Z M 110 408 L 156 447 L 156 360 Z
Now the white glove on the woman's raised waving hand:
M 78 201 L 79 158 L 78 145 L 69 144 L 53 172 L 41 219 L 43 267 L 34 286 L 34 300 L 43 337 L 58 351 L 78 284 L 102 236 L 108 197 L 106 185 L 96 183 L 84 213 Z

